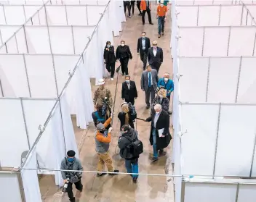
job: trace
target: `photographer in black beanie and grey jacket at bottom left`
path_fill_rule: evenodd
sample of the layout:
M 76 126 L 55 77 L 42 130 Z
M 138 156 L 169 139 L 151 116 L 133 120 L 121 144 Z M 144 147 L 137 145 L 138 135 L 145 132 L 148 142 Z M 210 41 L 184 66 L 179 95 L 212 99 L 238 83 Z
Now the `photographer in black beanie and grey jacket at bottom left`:
M 81 167 L 81 161 L 79 159 L 76 159 L 76 152 L 73 150 L 70 150 L 67 152 L 67 156 L 61 161 L 60 169 L 65 170 L 83 170 L 83 167 Z M 73 196 L 72 191 L 72 185 L 73 183 L 76 186 L 76 189 L 82 192 L 83 185 L 81 184 L 81 174 L 82 172 L 65 172 L 62 171 L 61 175 L 63 177 L 64 183 L 68 182 L 68 198 L 71 202 L 75 202 L 76 199 Z

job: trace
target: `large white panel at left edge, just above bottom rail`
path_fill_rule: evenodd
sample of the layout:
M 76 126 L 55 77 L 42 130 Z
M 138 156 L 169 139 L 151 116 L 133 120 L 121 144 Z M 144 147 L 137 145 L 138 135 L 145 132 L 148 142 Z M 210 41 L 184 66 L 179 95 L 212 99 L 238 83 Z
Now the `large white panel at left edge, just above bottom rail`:
M 1 167 L 20 167 L 21 153 L 28 151 L 20 100 L 0 99 L 0 111 Z

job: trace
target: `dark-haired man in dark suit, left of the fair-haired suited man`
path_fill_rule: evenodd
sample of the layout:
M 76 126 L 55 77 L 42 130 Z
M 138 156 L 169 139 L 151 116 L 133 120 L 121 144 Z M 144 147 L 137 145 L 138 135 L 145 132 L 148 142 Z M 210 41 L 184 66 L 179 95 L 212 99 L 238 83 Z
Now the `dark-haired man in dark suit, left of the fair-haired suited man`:
M 148 49 L 151 47 L 151 40 L 145 37 L 145 32 L 141 33 L 142 37 L 137 40 L 137 54 L 140 54 L 140 60 L 143 62 L 143 70 L 147 65 Z

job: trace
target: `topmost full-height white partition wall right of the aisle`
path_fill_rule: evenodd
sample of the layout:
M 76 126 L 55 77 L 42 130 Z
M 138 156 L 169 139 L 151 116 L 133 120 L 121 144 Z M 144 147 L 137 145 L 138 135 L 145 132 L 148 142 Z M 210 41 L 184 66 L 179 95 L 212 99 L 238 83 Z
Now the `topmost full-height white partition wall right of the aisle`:
M 179 26 L 255 25 L 251 12 L 244 5 L 190 5 L 176 9 Z

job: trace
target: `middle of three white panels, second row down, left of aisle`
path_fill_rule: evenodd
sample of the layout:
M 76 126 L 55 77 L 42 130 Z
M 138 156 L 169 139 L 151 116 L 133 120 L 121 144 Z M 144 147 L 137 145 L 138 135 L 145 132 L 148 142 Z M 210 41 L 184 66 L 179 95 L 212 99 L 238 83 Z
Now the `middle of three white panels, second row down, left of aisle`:
M 49 27 L 53 54 L 73 54 L 71 27 Z

